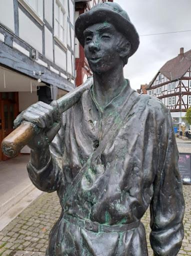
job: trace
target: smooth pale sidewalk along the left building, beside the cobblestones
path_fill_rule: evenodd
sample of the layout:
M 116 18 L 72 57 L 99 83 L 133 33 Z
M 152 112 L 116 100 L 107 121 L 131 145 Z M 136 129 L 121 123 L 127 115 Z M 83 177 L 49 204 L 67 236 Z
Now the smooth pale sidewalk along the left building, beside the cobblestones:
M 0 162 L 0 230 L 41 194 L 28 178 L 28 159 L 21 155 Z

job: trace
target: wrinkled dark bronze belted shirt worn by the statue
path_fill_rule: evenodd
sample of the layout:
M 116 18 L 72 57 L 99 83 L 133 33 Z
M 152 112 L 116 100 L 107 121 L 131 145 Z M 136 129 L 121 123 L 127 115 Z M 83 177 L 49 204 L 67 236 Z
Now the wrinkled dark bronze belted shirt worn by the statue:
M 176 255 L 183 239 L 184 200 L 169 110 L 160 100 L 139 95 L 128 81 L 102 109 L 92 91 L 63 113 L 47 165 L 41 170 L 28 165 L 33 184 L 56 190 L 62 207 L 46 255 L 147 255 L 141 222 L 118 232 L 95 232 L 81 223 L 136 223 L 149 205 L 154 255 Z M 107 134 L 112 136 L 103 151 L 90 161 Z M 80 181 L 71 186 L 85 164 Z

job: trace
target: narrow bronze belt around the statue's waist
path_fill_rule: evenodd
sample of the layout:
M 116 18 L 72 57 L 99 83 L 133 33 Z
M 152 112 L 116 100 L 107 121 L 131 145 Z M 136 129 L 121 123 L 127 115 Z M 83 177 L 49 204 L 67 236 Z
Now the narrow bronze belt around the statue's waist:
M 127 230 L 138 227 L 140 224 L 140 221 L 137 220 L 127 224 L 105 225 L 105 224 L 100 224 L 96 221 L 91 221 L 89 219 L 80 219 L 80 218 L 76 218 L 66 214 L 63 215 L 63 219 L 67 220 L 68 222 L 76 226 L 83 227 L 89 231 L 93 231 L 96 233 L 97 232 L 125 232 Z

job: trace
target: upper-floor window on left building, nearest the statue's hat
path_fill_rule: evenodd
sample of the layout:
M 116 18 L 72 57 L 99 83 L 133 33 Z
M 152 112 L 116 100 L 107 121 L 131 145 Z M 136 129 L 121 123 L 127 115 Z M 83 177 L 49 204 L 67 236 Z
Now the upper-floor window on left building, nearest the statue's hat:
M 64 0 L 56 0 L 54 8 L 54 36 L 66 45 L 66 20 L 63 8 Z

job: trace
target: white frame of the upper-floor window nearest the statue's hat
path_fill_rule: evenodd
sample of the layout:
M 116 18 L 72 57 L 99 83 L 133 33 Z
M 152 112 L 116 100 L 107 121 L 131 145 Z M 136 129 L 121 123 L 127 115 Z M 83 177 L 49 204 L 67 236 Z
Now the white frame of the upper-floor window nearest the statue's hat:
M 53 26 L 53 37 L 54 40 L 59 44 L 61 48 L 66 52 L 67 51 L 67 12 L 66 10 L 66 1 L 65 0 L 54 0 L 54 26 Z M 56 5 L 58 6 L 58 21 L 56 19 Z M 61 25 L 60 14 L 63 15 L 63 24 Z M 58 35 L 55 32 L 55 21 L 58 22 Z M 61 40 L 61 28 L 63 29 L 63 40 Z

